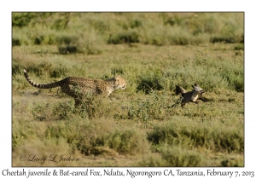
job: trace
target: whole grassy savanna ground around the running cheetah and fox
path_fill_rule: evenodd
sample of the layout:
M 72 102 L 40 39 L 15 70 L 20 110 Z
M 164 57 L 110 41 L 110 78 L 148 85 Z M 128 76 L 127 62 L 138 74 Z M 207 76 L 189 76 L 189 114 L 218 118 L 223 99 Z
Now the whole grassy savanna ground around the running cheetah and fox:
M 244 166 L 242 13 L 12 16 L 13 166 Z M 121 75 L 127 88 L 74 107 L 24 68 L 42 84 Z M 175 85 L 195 83 L 202 101 L 172 107 Z

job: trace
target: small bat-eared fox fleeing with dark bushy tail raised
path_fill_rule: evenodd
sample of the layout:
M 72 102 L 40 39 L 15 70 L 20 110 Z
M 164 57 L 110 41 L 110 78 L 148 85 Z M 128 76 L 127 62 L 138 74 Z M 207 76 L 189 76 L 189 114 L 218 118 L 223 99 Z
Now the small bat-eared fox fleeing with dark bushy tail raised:
M 198 95 L 203 95 L 205 93 L 201 87 L 197 84 L 192 85 L 193 90 L 186 92 L 182 87 L 176 85 L 176 95 L 181 94 L 183 96 L 183 100 L 181 101 L 181 107 L 185 106 L 189 102 L 195 102 L 195 104 L 198 104 L 197 98 Z

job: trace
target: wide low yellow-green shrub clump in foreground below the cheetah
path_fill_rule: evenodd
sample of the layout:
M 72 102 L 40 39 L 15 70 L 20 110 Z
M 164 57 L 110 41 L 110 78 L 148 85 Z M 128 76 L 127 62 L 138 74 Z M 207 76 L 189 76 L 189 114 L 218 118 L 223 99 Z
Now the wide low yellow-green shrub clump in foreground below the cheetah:
M 48 139 L 64 138 L 71 146 L 85 155 L 103 154 L 109 149 L 116 153 L 138 154 L 149 149 L 148 141 L 143 133 L 132 129 L 111 128 L 105 123 L 106 121 L 96 121 L 79 124 L 72 120 L 49 126 L 45 135 Z M 113 124 L 108 121 L 109 123 Z

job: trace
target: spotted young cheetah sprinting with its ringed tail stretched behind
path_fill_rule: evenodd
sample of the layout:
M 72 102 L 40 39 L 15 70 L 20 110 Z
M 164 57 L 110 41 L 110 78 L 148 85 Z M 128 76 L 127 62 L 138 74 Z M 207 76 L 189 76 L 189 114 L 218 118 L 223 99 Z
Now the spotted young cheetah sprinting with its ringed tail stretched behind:
M 108 80 L 67 77 L 61 81 L 51 84 L 37 84 L 36 82 L 32 81 L 25 69 L 24 75 L 28 83 L 32 84 L 32 86 L 38 89 L 52 89 L 61 87 L 62 92 L 74 98 L 75 106 L 79 106 L 84 95 L 104 95 L 108 97 L 113 90 L 125 90 L 126 88 L 125 79 L 121 78 L 120 76 L 109 78 Z

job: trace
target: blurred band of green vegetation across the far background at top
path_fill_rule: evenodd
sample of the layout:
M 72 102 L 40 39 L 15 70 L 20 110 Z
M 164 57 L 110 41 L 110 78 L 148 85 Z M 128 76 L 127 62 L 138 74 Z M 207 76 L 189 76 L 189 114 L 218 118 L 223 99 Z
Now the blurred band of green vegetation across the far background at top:
M 243 43 L 243 13 L 13 13 L 13 45 Z M 92 51 L 90 51 L 92 48 Z M 61 52 L 61 50 L 60 50 Z

